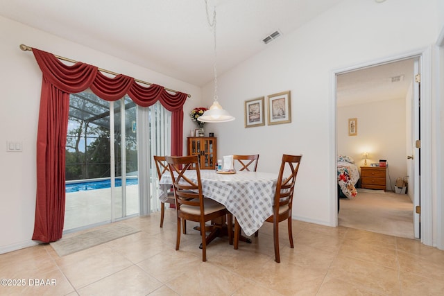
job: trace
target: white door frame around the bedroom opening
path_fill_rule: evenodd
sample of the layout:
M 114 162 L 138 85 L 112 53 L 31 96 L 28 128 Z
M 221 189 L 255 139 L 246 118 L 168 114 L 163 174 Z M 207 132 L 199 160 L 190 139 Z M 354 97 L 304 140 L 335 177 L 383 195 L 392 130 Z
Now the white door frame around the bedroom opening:
M 336 176 L 336 155 L 337 155 L 337 98 L 336 98 L 336 76 L 340 73 L 348 71 L 355 71 L 365 67 L 377 66 L 388 62 L 396 62 L 397 60 L 404 60 L 408 58 L 419 58 L 420 73 L 421 73 L 421 168 L 420 168 L 420 196 L 421 196 L 421 214 L 420 214 L 420 232 L 421 242 L 425 245 L 433 244 L 433 227 L 432 227 L 432 47 L 425 49 L 394 55 L 388 58 L 381 58 L 379 60 L 372 60 L 363 64 L 353 64 L 349 67 L 334 69 L 330 76 L 330 110 L 332 116 L 330 117 L 330 143 L 334 147 L 330 149 L 330 172 L 332 173 L 330 193 L 330 225 L 338 226 L 338 211 L 337 211 L 337 176 Z

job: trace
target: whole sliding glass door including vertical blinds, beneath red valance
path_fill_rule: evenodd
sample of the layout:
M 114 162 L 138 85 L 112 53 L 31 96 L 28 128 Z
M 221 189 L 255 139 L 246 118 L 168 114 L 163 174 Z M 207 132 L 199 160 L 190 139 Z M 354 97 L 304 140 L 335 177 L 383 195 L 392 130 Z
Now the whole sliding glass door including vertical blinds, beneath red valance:
M 64 232 L 160 211 L 153 155 L 169 155 L 171 112 L 71 94 Z

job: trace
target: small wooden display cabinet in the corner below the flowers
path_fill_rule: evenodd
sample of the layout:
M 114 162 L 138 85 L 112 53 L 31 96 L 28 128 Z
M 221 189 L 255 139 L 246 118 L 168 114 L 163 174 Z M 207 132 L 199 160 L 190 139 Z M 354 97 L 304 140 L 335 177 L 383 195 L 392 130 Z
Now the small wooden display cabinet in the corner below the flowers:
M 214 170 L 217 163 L 217 139 L 215 137 L 188 137 L 188 155 L 199 155 L 201 170 Z

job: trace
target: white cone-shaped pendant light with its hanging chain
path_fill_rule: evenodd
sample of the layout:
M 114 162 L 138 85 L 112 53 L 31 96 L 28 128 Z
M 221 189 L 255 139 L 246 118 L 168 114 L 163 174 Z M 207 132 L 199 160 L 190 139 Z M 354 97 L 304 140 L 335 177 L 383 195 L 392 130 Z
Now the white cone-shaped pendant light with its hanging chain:
M 234 117 L 231 116 L 227 110 L 223 110 L 221 104 L 217 101 L 217 70 L 216 70 L 216 6 L 214 6 L 213 12 L 213 20 L 210 21 L 210 17 L 208 15 L 208 4 L 207 0 L 205 0 L 205 10 L 207 12 L 207 22 L 210 28 L 213 30 L 214 37 L 214 102 L 211 105 L 210 109 L 205 111 L 201 116 L 198 117 L 198 121 L 202 122 L 210 122 L 210 123 L 218 123 L 218 122 L 228 122 L 234 121 Z

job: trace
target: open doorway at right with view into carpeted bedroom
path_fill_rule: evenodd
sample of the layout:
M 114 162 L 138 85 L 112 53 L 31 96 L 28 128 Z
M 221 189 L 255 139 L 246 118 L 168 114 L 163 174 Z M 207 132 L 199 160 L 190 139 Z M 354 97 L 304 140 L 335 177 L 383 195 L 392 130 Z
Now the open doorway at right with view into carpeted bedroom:
M 409 110 L 414 106 L 414 66 L 419 59 L 402 58 L 336 73 L 337 154 L 350 157 L 359 174 L 361 166 L 377 167 L 383 159 L 388 164 L 384 180 L 377 180 L 385 183 L 385 191 L 361 189 L 361 177 L 355 184 L 355 198 L 346 198 L 338 190 L 338 225 L 414 237 L 414 174 L 407 155 L 414 139 L 414 112 Z M 348 131 L 349 119 L 356 123 L 354 134 Z M 395 193 L 400 186 L 397 180 L 405 185 L 400 194 Z M 389 223 L 377 215 L 386 216 Z

